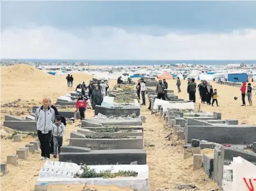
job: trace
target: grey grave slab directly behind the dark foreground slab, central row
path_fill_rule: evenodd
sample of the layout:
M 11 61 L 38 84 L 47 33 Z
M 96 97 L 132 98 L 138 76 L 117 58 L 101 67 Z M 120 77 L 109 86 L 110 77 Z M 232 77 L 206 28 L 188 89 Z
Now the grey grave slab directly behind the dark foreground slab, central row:
M 70 146 L 100 149 L 143 149 L 142 136 L 130 139 L 79 139 L 70 138 Z

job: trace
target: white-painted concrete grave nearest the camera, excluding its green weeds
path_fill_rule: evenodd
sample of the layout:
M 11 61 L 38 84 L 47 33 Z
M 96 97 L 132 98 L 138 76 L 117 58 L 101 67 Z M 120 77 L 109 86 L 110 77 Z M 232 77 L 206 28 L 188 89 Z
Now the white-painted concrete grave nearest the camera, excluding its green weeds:
M 130 187 L 131 189 L 149 191 L 149 182 L 148 182 L 148 165 L 88 165 L 90 169 L 95 169 L 96 172 L 103 170 L 111 170 L 111 172 L 118 172 L 119 170 L 134 170 L 138 173 L 136 177 L 116 177 L 112 179 L 103 179 L 103 178 L 88 178 L 80 179 L 73 178 L 72 172 L 65 170 L 62 167 L 50 168 L 50 172 L 46 171 L 46 168 L 43 167 L 39 173 L 39 179 L 37 179 L 35 185 L 35 191 L 41 190 L 45 187 L 50 187 L 50 185 L 64 185 L 64 184 L 88 184 L 88 185 L 116 185 L 118 187 Z M 75 167 L 75 169 L 77 169 Z M 66 174 L 70 174 L 67 176 Z

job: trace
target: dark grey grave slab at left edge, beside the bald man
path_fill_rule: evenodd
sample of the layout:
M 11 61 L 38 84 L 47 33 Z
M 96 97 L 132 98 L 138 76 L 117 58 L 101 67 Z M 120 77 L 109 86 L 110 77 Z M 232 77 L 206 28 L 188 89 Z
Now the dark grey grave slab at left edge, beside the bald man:
M 17 131 L 37 131 L 35 121 L 4 121 L 4 126 Z

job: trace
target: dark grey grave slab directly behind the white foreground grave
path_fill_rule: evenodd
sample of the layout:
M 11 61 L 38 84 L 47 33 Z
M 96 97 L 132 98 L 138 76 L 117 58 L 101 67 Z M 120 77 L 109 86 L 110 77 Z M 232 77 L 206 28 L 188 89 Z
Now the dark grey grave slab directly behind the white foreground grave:
M 60 152 L 59 161 L 72 161 L 75 164 L 87 165 L 130 164 L 133 161 L 137 161 L 138 164 L 146 164 L 146 150 L 111 149 L 89 152 Z

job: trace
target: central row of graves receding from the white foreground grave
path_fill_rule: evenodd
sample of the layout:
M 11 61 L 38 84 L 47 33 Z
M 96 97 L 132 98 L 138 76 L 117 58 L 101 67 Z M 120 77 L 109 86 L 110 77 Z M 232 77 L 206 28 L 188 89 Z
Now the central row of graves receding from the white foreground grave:
M 131 96 L 127 96 L 129 91 Z M 85 189 L 85 185 L 115 185 L 149 190 L 143 122 L 135 86 L 116 85 L 105 96 L 95 116 L 86 118 L 70 133 L 69 145 L 60 149 L 59 161 L 46 161 L 35 190 Z M 125 98 L 123 95 L 126 95 Z M 127 110 L 127 111 L 126 111 Z

